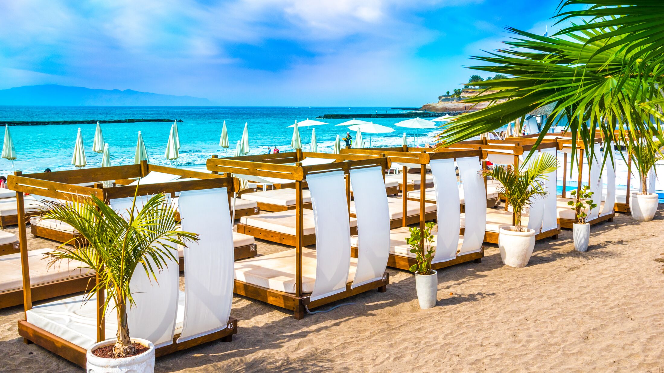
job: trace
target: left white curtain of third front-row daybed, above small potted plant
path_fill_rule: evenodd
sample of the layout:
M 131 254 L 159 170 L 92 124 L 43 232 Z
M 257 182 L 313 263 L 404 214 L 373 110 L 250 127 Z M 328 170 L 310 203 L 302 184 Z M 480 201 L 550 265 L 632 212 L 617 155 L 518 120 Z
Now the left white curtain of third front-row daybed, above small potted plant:
M 436 252 L 433 263 L 456 258 L 461 227 L 461 200 L 454 159 L 438 159 L 430 162 L 436 189 Z

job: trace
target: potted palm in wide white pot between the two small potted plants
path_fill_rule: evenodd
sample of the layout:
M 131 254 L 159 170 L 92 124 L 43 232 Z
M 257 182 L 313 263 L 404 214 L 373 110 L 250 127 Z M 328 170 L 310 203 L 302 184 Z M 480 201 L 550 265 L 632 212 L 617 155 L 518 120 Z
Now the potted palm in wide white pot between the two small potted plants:
M 546 180 L 546 174 L 554 172 L 557 168 L 556 157 L 544 153 L 527 168 L 522 165 L 521 168 L 514 170 L 494 167 L 482 171 L 483 176 L 491 176 L 501 182 L 498 194 L 505 197 L 512 207 L 514 225 L 500 227 L 498 234 L 498 248 L 503 264 L 518 268 L 528 265 L 535 248 L 535 230 L 521 225 L 521 215 L 533 198 L 548 194 L 541 180 Z

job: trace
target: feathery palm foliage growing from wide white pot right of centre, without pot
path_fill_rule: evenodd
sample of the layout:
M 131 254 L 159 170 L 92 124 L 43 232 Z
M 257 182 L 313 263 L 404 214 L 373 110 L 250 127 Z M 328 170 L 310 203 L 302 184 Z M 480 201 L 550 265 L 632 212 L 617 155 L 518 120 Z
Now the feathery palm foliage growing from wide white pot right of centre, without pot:
M 528 168 L 524 166 L 525 164 L 522 164 L 519 170 L 499 166 L 491 170 L 482 170 L 483 176 L 491 176 L 502 184 L 497 191 L 512 206 L 517 232 L 526 231 L 521 226 L 523 208 L 530 205 L 534 197 L 544 197 L 548 194 L 548 191 L 544 190 L 542 180 L 546 180 L 546 174 L 558 168 L 558 160 L 553 154 L 544 153 L 533 160 Z

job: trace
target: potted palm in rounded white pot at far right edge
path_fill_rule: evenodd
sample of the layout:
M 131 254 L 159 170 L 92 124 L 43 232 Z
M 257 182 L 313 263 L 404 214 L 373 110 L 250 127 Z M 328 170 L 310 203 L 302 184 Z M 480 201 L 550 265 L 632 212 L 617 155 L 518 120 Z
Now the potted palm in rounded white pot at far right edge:
M 659 195 L 648 193 L 648 174 L 655 167 L 655 162 L 663 159 L 661 147 L 661 142 L 655 141 L 653 144 L 648 144 L 643 138 L 631 146 L 629 151 L 632 163 L 641 176 L 641 191 L 629 195 L 629 211 L 631 211 L 631 217 L 637 221 L 651 221 L 657 212 Z

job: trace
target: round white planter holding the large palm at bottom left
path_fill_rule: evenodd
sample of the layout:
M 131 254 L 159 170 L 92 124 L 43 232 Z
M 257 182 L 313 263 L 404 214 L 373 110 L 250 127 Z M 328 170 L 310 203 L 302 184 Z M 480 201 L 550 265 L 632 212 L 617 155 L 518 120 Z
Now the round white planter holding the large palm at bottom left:
M 141 345 L 148 346 L 147 351 L 142 354 L 131 356 L 128 358 L 100 358 L 92 353 L 92 350 L 107 346 L 114 345 L 115 339 L 107 339 L 88 348 L 86 358 L 87 373 L 152 373 L 155 371 L 155 345 L 150 341 L 140 338 L 132 338 L 132 342 L 141 343 Z

